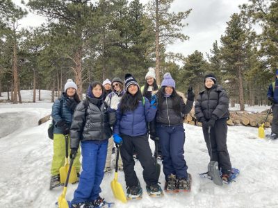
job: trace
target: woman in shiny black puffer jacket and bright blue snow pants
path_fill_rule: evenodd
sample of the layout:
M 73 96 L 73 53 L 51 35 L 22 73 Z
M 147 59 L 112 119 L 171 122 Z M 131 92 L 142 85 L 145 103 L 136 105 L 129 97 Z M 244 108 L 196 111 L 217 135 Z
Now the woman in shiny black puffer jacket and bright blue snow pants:
M 79 186 L 74 191 L 72 207 L 97 205 L 102 202 L 99 193 L 104 177 L 108 139 L 112 135 L 107 104 L 103 101 L 104 87 L 92 82 L 84 101 L 76 106 L 71 135 L 71 153 L 74 158 L 81 142 L 82 169 Z

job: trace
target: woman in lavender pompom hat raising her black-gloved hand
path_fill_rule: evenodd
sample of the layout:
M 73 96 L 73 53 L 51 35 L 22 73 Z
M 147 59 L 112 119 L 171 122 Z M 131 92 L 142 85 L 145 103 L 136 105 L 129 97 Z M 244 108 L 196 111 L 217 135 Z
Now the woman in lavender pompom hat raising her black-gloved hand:
M 163 172 L 166 190 L 176 191 L 190 189 L 186 160 L 184 159 L 184 142 L 182 114 L 188 114 L 193 107 L 193 89 L 188 89 L 186 104 L 176 92 L 176 84 L 170 73 L 165 73 L 158 90 L 158 111 L 156 113 L 156 133 L 158 134 L 163 155 Z

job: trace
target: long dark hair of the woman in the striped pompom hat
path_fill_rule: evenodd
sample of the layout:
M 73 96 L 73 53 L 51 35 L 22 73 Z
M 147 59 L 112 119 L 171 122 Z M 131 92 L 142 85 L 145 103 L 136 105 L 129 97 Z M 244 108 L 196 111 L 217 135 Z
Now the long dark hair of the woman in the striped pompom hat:
M 138 86 L 137 86 L 138 87 Z M 126 93 L 122 96 L 121 104 L 120 104 L 120 110 L 121 112 L 127 112 L 129 110 L 133 111 L 136 110 L 136 107 L 138 107 L 139 101 L 142 101 L 142 94 L 140 92 L 140 89 L 138 87 L 138 91 L 133 96 L 129 93 L 129 91 L 126 89 Z

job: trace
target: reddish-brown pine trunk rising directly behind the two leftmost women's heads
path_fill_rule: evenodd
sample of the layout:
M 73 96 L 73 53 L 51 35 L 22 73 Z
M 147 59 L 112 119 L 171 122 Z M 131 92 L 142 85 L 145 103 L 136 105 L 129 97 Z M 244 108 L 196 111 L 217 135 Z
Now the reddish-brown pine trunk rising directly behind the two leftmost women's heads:
M 79 98 L 82 100 L 82 64 L 81 64 L 81 53 L 82 49 L 80 48 L 78 51 L 76 51 L 74 55 L 74 61 L 75 61 L 75 83 L 77 85 L 77 94 L 79 95 Z

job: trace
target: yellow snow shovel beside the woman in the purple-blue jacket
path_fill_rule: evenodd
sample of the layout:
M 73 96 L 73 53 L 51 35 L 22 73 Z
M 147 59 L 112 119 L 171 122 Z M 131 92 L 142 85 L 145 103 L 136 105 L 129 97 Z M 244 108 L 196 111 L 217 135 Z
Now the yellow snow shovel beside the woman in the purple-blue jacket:
M 116 153 L 116 168 L 115 168 L 115 177 L 114 180 L 111 181 L 111 189 L 113 191 L 114 197 L 117 198 L 118 200 L 126 203 L 126 196 L 124 194 L 124 190 L 122 189 L 122 185 L 120 184 L 120 182 L 117 182 L 117 162 L 119 160 L 119 146 L 116 144 L 116 148 L 117 148 L 117 153 Z

